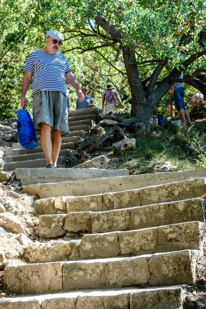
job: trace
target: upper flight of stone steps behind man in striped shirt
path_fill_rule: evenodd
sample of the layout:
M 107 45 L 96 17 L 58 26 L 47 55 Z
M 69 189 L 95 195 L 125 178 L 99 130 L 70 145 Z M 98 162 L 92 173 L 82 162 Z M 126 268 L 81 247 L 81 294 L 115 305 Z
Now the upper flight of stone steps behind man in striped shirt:
M 76 149 L 76 144 L 85 138 L 97 121 L 98 108 L 82 111 L 69 112 L 69 133 L 62 137 L 62 146 L 57 162 L 58 167 L 66 166 L 66 160 L 70 157 L 71 151 Z M 37 138 L 39 140 L 40 136 L 37 136 Z M 36 168 L 46 165 L 40 141 L 33 150 L 26 150 L 19 143 L 14 143 L 12 149 L 6 150 L 3 160 L 3 171 L 13 171 L 16 168 Z

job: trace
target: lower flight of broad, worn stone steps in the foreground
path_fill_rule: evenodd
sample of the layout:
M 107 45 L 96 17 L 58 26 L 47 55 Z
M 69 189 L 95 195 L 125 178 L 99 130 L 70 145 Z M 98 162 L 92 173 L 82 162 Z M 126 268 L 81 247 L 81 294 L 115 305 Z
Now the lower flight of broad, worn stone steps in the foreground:
M 206 168 L 26 185 L 39 241 L 0 309 L 182 309 L 206 242 Z

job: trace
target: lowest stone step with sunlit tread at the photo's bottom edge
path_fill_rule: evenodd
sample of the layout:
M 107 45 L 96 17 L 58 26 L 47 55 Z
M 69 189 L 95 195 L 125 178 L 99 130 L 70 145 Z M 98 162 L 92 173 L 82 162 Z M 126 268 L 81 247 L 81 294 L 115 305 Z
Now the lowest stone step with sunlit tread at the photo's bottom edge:
M 186 289 L 186 285 L 130 287 L 10 297 L 0 299 L 0 309 L 182 309 Z

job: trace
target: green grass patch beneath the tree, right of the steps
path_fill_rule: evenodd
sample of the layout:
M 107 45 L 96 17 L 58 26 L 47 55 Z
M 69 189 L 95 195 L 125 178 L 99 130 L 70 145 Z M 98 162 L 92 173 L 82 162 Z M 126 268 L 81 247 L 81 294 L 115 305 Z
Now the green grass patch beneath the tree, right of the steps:
M 203 168 L 206 119 L 191 126 L 153 126 L 149 133 L 137 137 L 136 144 L 135 150 L 120 154 L 117 168 L 127 168 L 131 174 Z

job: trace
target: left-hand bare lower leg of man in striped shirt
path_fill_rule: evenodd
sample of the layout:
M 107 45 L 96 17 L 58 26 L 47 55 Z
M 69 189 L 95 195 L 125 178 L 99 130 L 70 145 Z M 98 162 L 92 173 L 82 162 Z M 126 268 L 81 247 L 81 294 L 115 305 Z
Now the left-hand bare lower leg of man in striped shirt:
M 47 123 L 41 123 L 41 147 L 46 157 L 46 165 L 53 164 L 52 161 L 52 141 L 51 141 L 51 126 Z

